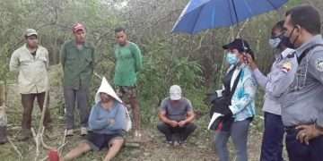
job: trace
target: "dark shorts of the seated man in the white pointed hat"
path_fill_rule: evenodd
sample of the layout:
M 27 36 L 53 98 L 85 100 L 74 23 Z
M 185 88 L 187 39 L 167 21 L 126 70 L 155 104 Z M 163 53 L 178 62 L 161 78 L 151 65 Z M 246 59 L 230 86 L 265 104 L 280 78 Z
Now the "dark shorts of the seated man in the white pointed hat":
M 93 150 L 99 151 L 102 148 L 111 147 L 112 140 L 123 140 L 123 139 L 124 139 L 124 135 L 121 133 L 104 134 L 104 133 L 90 132 L 87 135 L 85 142 L 88 143 Z

